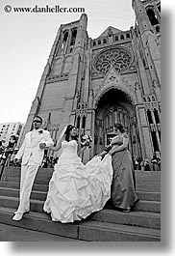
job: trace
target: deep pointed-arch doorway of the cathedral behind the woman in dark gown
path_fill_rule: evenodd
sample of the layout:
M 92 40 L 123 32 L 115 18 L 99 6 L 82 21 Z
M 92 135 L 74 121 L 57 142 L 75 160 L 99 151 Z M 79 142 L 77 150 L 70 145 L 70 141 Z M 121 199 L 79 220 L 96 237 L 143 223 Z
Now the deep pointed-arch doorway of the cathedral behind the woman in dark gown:
M 129 150 L 132 156 L 141 156 L 137 129 L 136 110 L 126 93 L 112 88 L 98 100 L 94 121 L 94 154 L 99 154 L 110 144 L 113 125 L 121 123 L 130 136 Z

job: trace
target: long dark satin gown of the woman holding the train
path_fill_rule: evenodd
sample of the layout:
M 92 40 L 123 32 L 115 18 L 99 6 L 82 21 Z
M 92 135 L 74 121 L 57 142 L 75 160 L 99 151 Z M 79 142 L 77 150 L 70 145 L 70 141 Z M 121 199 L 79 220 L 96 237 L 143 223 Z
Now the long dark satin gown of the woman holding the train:
M 118 145 L 122 144 L 122 136 L 118 137 Z M 112 154 L 112 205 L 120 210 L 130 211 L 136 205 L 136 177 L 133 161 L 127 149 Z

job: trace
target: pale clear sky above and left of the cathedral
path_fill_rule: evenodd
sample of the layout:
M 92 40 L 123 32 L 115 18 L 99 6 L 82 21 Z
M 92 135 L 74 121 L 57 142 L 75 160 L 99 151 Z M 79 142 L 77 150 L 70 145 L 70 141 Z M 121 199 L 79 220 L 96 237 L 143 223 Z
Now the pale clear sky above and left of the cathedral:
M 108 27 L 129 30 L 135 24 L 131 0 L 1 0 L 0 1 L 0 124 L 25 123 L 52 44 L 61 24 L 78 20 L 80 13 L 6 13 L 7 6 L 81 7 L 87 14 L 88 37 Z

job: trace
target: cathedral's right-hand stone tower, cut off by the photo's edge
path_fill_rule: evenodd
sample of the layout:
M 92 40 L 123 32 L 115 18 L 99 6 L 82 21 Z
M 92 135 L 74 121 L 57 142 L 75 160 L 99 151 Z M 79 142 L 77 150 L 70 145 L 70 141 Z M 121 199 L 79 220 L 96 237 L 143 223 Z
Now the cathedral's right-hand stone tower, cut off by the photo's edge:
M 161 153 L 161 2 L 133 0 L 132 6 L 136 14 L 133 44 L 143 107 L 137 106 L 137 112 L 142 119 L 146 156 L 150 158 L 149 151 Z

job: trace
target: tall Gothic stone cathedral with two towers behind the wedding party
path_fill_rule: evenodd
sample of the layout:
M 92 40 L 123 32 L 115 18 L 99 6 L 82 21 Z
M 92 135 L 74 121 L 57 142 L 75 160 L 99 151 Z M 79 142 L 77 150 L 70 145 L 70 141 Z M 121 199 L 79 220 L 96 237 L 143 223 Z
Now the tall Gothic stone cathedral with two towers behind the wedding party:
M 93 138 L 87 161 L 110 143 L 113 125 L 121 123 L 132 156 L 160 155 L 161 2 L 133 0 L 132 7 L 136 23 L 127 31 L 107 24 L 91 39 L 87 14 L 60 26 L 24 134 L 35 115 L 55 142 L 60 130 L 73 124 L 80 135 Z

